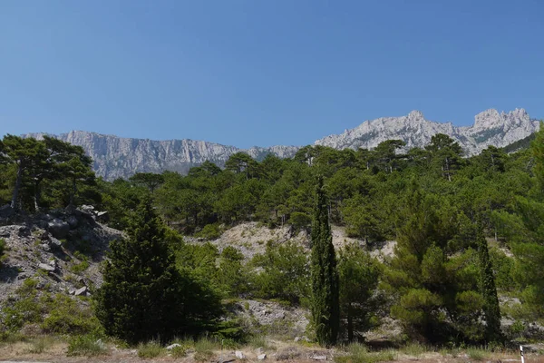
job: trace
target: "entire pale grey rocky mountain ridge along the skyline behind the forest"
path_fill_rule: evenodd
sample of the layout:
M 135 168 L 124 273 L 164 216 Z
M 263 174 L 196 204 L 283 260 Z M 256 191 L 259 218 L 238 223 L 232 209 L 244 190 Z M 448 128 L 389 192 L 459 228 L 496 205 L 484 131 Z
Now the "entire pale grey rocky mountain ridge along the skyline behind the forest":
M 457 140 L 467 155 L 481 152 L 489 145 L 504 147 L 520 141 L 539 130 L 539 122 L 530 119 L 524 109 L 510 113 L 487 110 L 475 116 L 472 126 L 454 126 L 452 123 L 428 121 L 423 113 L 413 111 L 401 117 L 382 117 L 365 121 L 343 133 L 317 140 L 316 145 L 335 149 L 373 149 L 380 142 L 400 139 L 407 148 L 423 147 L 431 142 L 432 135 L 445 133 Z M 41 138 L 44 133 L 28 133 L 27 137 Z M 189 168 L 209 160 L 219 166 L 235 152 L 248 152 L 260 160 L 268 153 L 280 158 L 292 157 L 297 146 L 271 146 L 238 149 L 234 146 L 189 139 L 152 141 L 149 139 L 121 138 L 96 132 L 72 131 L 53 135 L 64 142 L 83 147 L 94 161 L 94 171 L 106 180 L 127 178 L 135 172 L 188 172 Z

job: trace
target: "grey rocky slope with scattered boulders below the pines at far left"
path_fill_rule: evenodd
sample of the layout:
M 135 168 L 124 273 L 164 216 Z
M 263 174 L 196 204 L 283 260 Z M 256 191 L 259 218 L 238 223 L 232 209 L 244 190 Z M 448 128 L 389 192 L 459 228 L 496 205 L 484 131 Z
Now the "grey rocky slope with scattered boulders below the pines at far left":
M 87 296 L 102 284 L 100 262 L 121 231 L 100 222 L 92 208 L 51 211 L 25 217 L 0 215 L 0 303 L 24 280 L 38 280 L 38 289 Z M 4 218 L 3 218 L 4 217 Z

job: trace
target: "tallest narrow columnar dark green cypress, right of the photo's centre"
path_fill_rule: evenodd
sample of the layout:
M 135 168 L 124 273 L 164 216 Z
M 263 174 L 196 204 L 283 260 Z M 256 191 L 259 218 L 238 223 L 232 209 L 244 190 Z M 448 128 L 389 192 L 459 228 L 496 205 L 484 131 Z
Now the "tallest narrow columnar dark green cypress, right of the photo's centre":
M 317 342 L 326 347 L 336 343 L 340 324 L 338 272 L 327 204 L 323 178 L 320 177 L 311 235 L 312 320 Z

